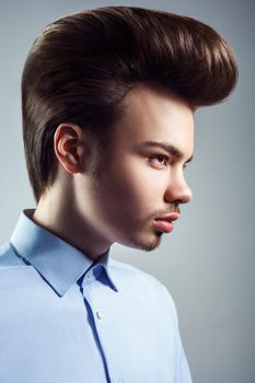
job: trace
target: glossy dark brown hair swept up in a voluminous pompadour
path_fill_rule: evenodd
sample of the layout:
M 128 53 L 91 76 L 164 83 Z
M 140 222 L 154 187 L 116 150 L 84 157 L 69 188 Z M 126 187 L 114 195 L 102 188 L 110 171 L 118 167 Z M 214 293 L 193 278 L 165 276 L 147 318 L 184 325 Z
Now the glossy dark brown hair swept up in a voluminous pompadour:
M 154 83 L 197 107 L 224 100 L 236 78 L 224 39 L 190 18 L 106 7 L 48 25 L 22 78 L 24 147 L 36 201 L 54 179 L 59 124 L 78 124 L 101 140 L 136 84 Z

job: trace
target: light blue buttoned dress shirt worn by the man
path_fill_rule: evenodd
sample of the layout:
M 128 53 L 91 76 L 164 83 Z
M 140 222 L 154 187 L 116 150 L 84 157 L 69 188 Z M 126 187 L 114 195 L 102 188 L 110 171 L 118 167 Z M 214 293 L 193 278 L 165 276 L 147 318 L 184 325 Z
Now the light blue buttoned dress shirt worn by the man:
M 165 287 L 28 213 L 0 251 L 0 382 L 190 383 Z

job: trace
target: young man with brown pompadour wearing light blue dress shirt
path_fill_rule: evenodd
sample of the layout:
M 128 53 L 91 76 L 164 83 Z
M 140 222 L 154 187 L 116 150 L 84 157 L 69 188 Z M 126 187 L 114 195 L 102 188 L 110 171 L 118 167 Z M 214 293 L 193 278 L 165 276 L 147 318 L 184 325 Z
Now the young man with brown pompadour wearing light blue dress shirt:
M 194 111 L 236 76 L 213 30 L 171 13 L 84 11 L 35 40 L 22 107 L 36 209 L 1 249 L 1 382 L 192 382 L 171 295 L 108 252 L 172 232 L 192 199 Z

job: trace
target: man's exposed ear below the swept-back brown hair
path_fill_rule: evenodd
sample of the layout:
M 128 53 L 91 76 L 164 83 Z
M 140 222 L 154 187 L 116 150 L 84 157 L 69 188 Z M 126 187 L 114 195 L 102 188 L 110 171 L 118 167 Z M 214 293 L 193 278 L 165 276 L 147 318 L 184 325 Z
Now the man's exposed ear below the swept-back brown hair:
M 84 131 L 76 124 L 60 124 L 54 135 L 55 154 L 70 174 L 83 172 Z

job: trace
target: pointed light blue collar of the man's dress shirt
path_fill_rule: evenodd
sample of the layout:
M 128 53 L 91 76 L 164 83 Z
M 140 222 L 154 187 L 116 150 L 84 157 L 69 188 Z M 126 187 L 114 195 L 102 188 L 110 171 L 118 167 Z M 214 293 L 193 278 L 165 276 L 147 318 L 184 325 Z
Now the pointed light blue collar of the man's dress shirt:
M 36 224 L 27 217 L 32 213 L 33 210 L 21 213 L 11 236 L 11 244 L 16 254 L 31 264 L 60 297 L 94 264 L 104 267 L 107 285 L 118 291 L 112 280 L 108 252 L 93 263 L 84 253 Z

